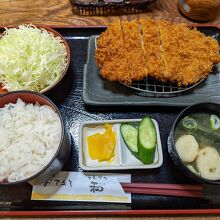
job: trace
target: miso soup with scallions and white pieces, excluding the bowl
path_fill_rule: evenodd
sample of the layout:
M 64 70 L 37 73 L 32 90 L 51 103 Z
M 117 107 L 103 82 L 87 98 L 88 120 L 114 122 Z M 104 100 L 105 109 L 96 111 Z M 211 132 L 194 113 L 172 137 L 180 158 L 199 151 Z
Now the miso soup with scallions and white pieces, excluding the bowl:
M 179 157 L 193 173 L 209 180 L 220 179 L 219 115 L 187 115 L 177 125 L 174 141 Z

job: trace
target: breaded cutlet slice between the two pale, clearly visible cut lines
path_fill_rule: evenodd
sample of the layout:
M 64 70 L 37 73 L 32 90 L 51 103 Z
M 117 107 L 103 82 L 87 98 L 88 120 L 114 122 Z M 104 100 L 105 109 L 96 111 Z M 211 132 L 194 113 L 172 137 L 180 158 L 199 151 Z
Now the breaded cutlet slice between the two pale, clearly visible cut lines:
M 153 19 L 140 19 L 144 54 L 149 68 L 149 76 L 165 81 L 165 68 L 160 46 L 159 27 Z

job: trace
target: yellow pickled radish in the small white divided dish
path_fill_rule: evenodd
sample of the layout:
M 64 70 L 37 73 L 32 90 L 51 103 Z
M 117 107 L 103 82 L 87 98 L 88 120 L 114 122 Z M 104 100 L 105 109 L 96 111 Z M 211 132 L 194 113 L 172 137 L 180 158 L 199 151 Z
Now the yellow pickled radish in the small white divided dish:
M 92 160 L 111 161 L 115 156 L 116 133 L 110 124 L 105 124 L 103 134 L 96 133 L 87 137 L 89 156 Z

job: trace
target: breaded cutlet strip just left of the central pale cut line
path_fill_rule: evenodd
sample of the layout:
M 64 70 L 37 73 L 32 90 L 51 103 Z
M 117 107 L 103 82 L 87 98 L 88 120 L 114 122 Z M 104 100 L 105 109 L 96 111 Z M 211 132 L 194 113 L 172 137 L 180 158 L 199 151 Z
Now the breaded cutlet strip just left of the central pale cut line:
M 148 75 L 148 67 L 144 58 L 139 22 L 122 21 L 121 27 L 131 80 L 143 80 Z

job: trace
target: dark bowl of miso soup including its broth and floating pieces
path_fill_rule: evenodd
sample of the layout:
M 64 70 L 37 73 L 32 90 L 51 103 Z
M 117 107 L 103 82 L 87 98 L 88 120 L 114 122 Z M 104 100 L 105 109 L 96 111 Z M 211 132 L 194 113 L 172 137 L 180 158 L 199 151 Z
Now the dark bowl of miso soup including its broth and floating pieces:
M 220 105 L 198 103 L 183 110 L 173 124 L 168 151 L 187 176 L 220 184 Z

